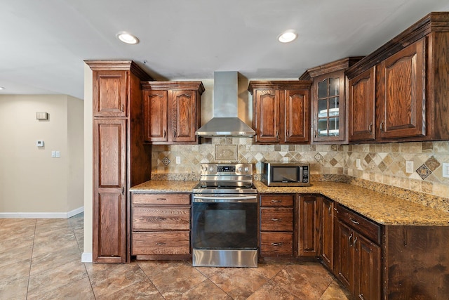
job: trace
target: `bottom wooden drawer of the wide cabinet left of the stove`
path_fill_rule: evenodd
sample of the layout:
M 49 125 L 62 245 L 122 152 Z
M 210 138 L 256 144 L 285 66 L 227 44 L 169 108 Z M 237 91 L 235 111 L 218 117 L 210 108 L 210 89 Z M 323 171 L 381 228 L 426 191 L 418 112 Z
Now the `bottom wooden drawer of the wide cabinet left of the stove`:
M 190 233 L 133 233 L 131 249 L 131 255 L 190 254 Z

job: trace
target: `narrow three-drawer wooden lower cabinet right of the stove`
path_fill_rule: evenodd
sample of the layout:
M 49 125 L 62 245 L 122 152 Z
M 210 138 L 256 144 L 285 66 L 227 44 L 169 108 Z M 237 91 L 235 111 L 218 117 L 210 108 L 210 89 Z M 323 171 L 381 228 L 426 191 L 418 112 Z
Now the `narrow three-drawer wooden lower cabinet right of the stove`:
M 260 256 L 290 256 L 296 249 L 295 195 L 260 195 Z

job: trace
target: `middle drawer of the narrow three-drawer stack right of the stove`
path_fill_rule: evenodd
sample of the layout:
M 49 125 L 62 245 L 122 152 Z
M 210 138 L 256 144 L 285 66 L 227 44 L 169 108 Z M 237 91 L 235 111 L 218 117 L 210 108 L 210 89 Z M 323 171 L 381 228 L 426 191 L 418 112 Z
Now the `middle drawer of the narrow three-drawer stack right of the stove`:
M 293 209 L 261 208 L 260 230 L 293 231 Z

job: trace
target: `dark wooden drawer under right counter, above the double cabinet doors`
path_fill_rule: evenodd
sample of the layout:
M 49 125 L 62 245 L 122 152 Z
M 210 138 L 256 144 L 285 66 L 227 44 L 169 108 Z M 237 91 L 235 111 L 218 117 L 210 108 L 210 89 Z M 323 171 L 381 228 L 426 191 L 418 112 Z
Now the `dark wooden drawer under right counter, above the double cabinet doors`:
M 350 211 L 346 207 L 336 205 L 337 217 L 343 223 L 346 223 L 350 228 L 361 233 L 369 240 L 380 244 L 380 225 L 366 219 L 365 217 Z

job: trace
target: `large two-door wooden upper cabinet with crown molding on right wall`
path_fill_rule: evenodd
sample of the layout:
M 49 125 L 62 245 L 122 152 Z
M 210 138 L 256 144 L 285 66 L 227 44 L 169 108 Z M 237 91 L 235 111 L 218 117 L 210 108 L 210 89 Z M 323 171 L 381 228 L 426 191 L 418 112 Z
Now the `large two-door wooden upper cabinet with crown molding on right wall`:
M 448 48 L 449 13 L 429 13 L 349 67 L 350 140 L 449 140 Z M 375 122 L 369 132 L 373 85 Z

